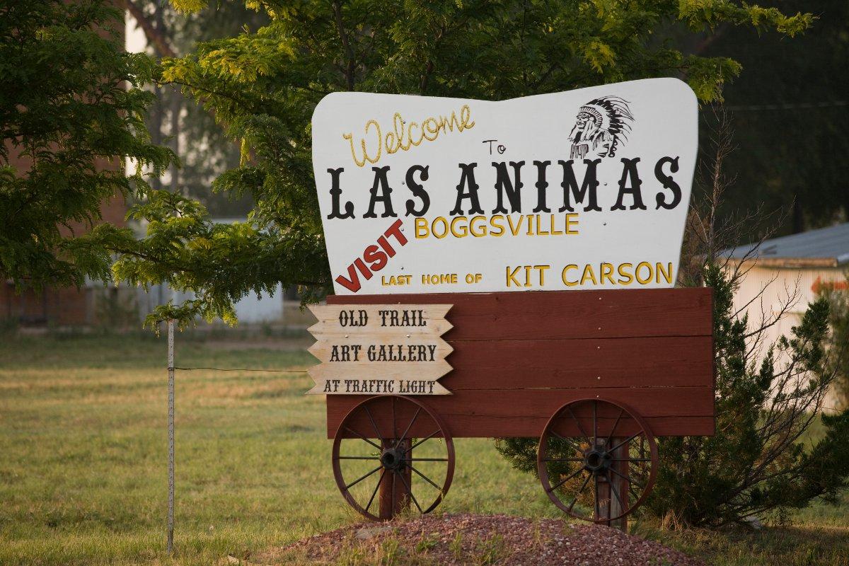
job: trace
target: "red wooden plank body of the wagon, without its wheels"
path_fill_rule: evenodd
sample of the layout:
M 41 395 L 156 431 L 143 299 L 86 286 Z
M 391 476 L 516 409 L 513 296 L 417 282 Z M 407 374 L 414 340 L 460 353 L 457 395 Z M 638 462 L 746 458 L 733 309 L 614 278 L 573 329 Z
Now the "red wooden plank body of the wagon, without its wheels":
M 396 303 L 453 305 L 442 337 L 453 370 L 440 379 L 452 395 L 424 401 L 454 437 L 538 437 L 560 406 L 595 397 L 632 407 L 656 436 L 714 432 L 711 289 L 328 297 Z M 328 395 L 329 438 L 361 401 Z

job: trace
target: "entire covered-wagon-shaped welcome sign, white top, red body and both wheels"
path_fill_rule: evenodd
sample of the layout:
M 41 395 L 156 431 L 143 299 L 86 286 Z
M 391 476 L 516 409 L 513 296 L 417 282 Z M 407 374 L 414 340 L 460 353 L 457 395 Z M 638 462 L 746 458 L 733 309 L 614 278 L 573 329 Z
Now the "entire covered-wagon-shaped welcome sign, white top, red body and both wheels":
M 658 475 L 655 438 L 714 434 L 712 289 L 672 289 L 697 137 L 674 79 L 323 98 L 335 294 L 311 307 L 309 392 L 352 508 L 428 513 L 454 438 L 523 437 L 556 507 L 624 527 Z

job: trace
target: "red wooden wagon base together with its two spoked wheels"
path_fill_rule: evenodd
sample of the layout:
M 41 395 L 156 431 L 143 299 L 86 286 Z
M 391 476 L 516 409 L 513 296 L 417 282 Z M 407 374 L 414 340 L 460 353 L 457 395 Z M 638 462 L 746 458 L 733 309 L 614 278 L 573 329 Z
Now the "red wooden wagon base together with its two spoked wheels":
M 714 434 L 711 289 L 336 295 L 328 304 L 452 305 L 441 337 L 452 369 L 439 382 L 451 395 L 327 395 L 335 478 L 368 518 L 391 518 L 410 501 L 421 513 L 436 507 L 453 478 L 454 437 L 532 437 L 551 501 L 617 524 L 654 485 L 655 436 Z M 417 456 L 431 438 L 447 452 Z M 342 448 L 351 440 L 359 452 Z M 351 461 L 377 467 L 346 474 Z M 447 465 L 437 479 L 416 468 L 434 461 Z M 378 472 L 362 500 L 352 495 Z M 413 495 L 417 476 L 436 489 L 430 504 Z M 578 511 L 588 486 L 593 502 Z

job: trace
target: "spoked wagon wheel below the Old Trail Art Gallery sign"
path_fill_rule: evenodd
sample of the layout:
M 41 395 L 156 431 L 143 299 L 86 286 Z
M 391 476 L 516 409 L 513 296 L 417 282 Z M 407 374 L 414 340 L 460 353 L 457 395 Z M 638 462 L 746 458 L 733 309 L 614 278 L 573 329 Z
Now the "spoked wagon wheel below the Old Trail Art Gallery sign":
M 406 508 L 429 513 L 451 487 L 453 440 L 420 401 L 371 397 L 336 430 L 333 474 L 342 496 L 366 518 L 388 519 Z

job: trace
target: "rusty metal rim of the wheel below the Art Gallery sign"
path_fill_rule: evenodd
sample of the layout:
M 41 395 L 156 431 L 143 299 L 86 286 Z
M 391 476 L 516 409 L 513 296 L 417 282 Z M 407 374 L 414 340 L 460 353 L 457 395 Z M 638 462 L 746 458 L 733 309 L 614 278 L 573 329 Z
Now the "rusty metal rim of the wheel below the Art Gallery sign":
M 346 425 L 350 423 L 350 421 L 357 414 L 357 412 L 361 408 L 368 406 L 369 403 L 374 403 L 374 401 L 376 401 L 376 400 L 379 400 L 379 399 L 382 400 L 382 399 L 386 399 L 386 398 L 391 398 L 393 403 L 396 403 L 397 401 L 408 402 L 408 403 L 412 404 L 413 406 L 417 407 L 417 413 L 416 413 L 417 415 L 420 414 L 419 413 L 419 411 L 420 411 L 420 412 L 424 412 L 424 414 L 426 414 L 428 417 L 430 417 L 430 419 L 436 424 L 437 431 L 435 431 L 435 434 L 431 434 L 430 437 L 428 437 L 424 440 L 428 440 L 429 438 L 433 438 L 433 437 L 442 438 L 443 440 L 445 440 L 445 448 L 446 448 L 446 453 L 447 453 L 445 479 L 442 482 L 441 491 L 436 496 L 436 499 L 433 502 L 431 502 L 428 507 L 421 509 L 422 514 L 430 513 L 442 502 L 442 500 L 445 498 L 445 496 L 448 492 L 448 489 L 451 487 L 451 482 L 452 482 L 453 477 L 454 477 L 454 442 L 453 442 L 453 439 L 451 437 L 451 434 L 448 432 L 448 429 L 445 426 L 445 423 L 442 422 L 441 418 L 438 417 L 435 412 L 432 412 L 428 406 L 424 405 L 423 402 L 418 401 L 416 399 L 413 399 L 413 397 L 410 397 L 410 396 L 407 396 L 407 395 L 375 395 L 373 397 L 368 397 L 364 401 L 357 403 L 357 405 L 353 406 L 351 408 L 351 410 L 346 413 L 345 418 L 342 419 L 342 422 L 340 423 L 339 428 L 336 429 L 336 434 L 334 436 L 334 441 L 333 441 L 332 459 L 333 459 L 334 479 L 336 481 L 336 486 L 339 488 L 342 496 L 345 498 L 346 502 L 348 502 L 348 505 L 353 507 L 357 511 L 357 513 L 360 513 L 361 515 L 363 515 L 363 517 L 368 518 L 372 521 L 381 521 L 381 520 L 385 520 L 385 519 L 380 518 L 378 515 L 375 515 L 374 513 L 371 513 L 368 510 L 368 509 L 371 508 L 370 504 L 373 501 L 370 501 L 367 504 L 367 506 L 364 508 L 359 502 L 357 502 L 357 499 L 354 496 L 351 495 L 351 491 L 350 491 L 349 488 L 352 485 L 350 485 L 350 484 L 346 485 L 345 479 L 343 478 L 343 473 L 342 473 L 342 470 L 341 470 L 340 460 L 343 459 L 343 458 L 340 458 L 340 447 L 341 447 L 342 440 L 346 440 L 346 437 L 343 434 L 344 431 L 346 430 Z M 394 406 L 395 405 L 393 404 L 393 408 L 394 408 Z M 415 417 L 413 417 L 413 421 L 415 421 L 415 420 L 416 420 Z M 410 426 L 412 426 L 412 423 L 410 423 Z M 409 430 L 409 428 L 410 427 L 408 426 L 407 431 Z M 375 430 L 375 433 L 376 432 L 377 431 Z M 406 435 L 406 432 L 404 434 L 402 434 L 402 438 L 393 439 L 393 440 L 397 440 L 396 446 L 398 444 L 400 444 L 400 442 L 402 440 L 408 440 L 406 438 L 403 438 L 403 436 L 405 436 L 405 435 Z M 383 439 L 380 439 L 380 440 L 383 440 Z M 422 444 L 424 442 L 424 440 L 419 441 L 419 444 Z M 415 447 L 415 446 L 413 446 L 413 447 Z M 378 491 L 377 488 L 380 488 L 380 483 L 382 482 L 383 477 L 384 477 L 383 474 L 385 474 L 386 468 L 383 467 L 383 462 L 381 462 L 381 467 L 382 467 L 382 469 L 379 468 L 380 474 L 381 474 L 380 480 L 379 480 L 379 483 L 374 490 L 374 493 L 377 493 L 377 491 Z M 412 466 L 411 466 L 411 468 L 412 468 Z M 377 470 L 375 470 L 375 473 L 377 473 Z M 411 495 L 412 485 L 409 485 L 409 486 L 405 485 L 405 487 L 407 488 L 408 495 Z M 412 497 L 412 495 L 411 495 L 411 497 Z M 374 499 L 374 496 L 373 496 L 373 499 Z M 417 503 L 417 505 L 418 505 L 418 503 Z

